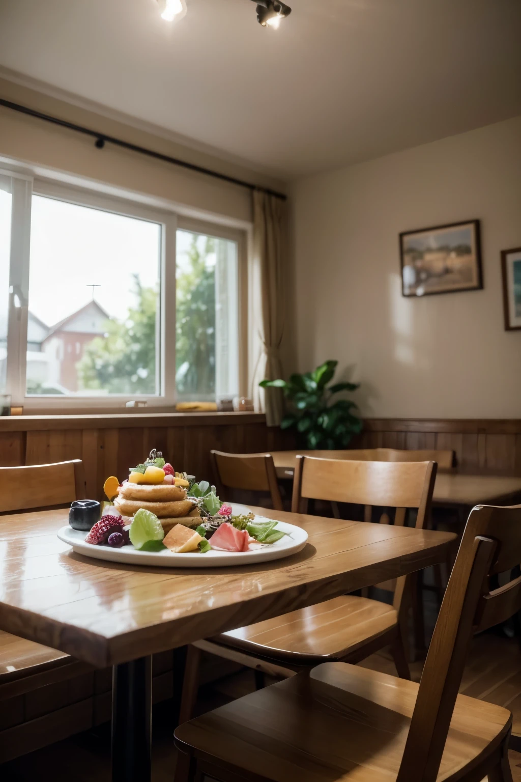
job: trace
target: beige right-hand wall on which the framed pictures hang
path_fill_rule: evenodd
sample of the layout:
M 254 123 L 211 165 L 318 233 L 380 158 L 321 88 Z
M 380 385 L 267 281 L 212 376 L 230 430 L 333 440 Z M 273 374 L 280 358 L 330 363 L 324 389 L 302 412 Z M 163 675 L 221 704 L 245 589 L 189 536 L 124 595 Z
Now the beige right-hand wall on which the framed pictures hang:
M 521 117 L 305 178 L 293 195 L 301 371 L 337 358 L 366 415 L 521 418 L 499 255 L 521 246 Z M 404 299 L 398 233 L 474 218 L 484 290 Z

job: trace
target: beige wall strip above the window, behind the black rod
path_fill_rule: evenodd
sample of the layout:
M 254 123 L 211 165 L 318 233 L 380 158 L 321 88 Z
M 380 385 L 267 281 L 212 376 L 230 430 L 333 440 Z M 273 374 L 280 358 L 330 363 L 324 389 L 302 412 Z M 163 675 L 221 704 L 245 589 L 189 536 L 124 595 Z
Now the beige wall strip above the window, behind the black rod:
M 185 147 L 168 138 L 161 138 L 1 77 L 0 97 L 256 185 L 284 189 L 280 181 L 240 164 Z M 5 157 L 76 174 L 153 199 L 202 210 L 209 215 L 222 215 L 238 221 L 252 219 L 252 195 L 246 188 L 112 145 L 98 150 L 94 139 L 0 106 L 0 158 Z

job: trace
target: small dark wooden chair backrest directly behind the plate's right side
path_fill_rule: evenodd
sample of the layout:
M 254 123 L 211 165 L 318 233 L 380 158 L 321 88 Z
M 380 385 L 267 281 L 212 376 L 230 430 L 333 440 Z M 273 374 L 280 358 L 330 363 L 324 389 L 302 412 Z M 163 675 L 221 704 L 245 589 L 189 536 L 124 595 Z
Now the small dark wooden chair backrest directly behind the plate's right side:
M 271 496 L 273 509 L 283 510 L 277 472 L 271 454 L 225 454 L 221 450 L 211 450 L 210 457 L 220 486 L 248 491 L 267 491 Z M 219 491 L 221 491 L 220 486 Z

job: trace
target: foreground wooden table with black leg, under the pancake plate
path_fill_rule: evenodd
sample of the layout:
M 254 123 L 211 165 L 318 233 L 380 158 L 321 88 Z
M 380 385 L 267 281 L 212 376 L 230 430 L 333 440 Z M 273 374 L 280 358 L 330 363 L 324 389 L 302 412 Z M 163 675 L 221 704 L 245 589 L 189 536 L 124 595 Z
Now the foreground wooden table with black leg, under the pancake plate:
M 266 509 L 253 508 L 260 515 Z M 73 553 L 67 511 L 0 517 L 0 630 L 113 666 L 112 780 L 149 782 L 152 654 L 443 561 L 452 533 L 269 511 L 309 541 L 277 561 L 164 569 Z

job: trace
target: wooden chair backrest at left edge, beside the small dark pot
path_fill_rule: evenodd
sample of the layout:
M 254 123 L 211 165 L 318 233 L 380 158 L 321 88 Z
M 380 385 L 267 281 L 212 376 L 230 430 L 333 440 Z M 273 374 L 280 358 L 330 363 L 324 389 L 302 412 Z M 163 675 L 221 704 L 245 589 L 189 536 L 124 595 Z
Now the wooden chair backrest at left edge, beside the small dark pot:
M 0 467 L 0 513 L 48 508 L 85 499 L 80 459 L 55 465 Z

